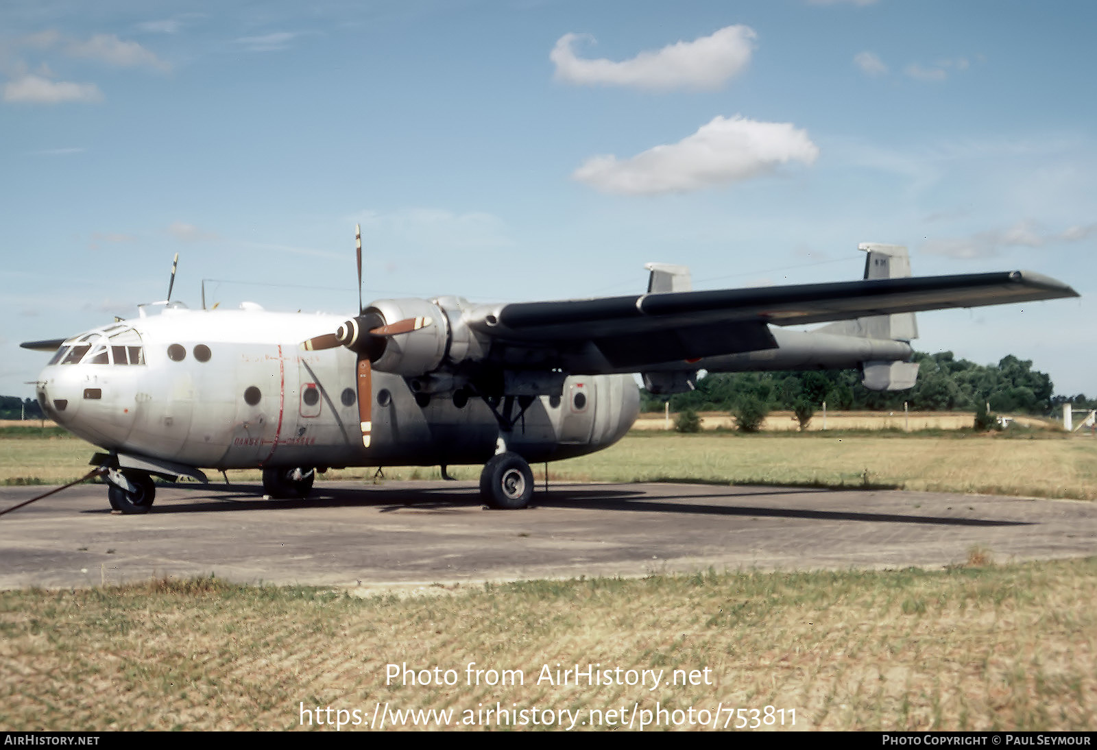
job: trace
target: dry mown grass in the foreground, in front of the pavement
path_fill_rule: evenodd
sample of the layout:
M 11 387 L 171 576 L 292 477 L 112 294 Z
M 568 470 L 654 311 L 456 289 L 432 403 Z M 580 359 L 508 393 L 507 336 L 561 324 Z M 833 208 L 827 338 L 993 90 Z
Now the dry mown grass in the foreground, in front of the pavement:
M 317 707 L 332 709 L 325 728 L 354 711 L 360 725 L 342 729 L 377 716 L 482 728 L 499 721 L 483 713 L 497 704 L 576 729 L 1092 729 L 1095 579 L 1095 559 L 999 568 L 975 552 L 943 571 L 533 581 L 405 599 L 215 580 L 4 592 L 0 729 L 292 729 L 305 714 L 315 727 Z M 470 662 L 485 670 L 478 685 Z M 428 683 L 437 668 L 453 684 L 386 682 L 387 664 L 430 670 Z M 555 684 L 557 666 L 576 664 L 622 680 L 665 671 L 655 690 Z M 486 684 L 489 670 L 496 683 L 517 670 L 513 684 Z

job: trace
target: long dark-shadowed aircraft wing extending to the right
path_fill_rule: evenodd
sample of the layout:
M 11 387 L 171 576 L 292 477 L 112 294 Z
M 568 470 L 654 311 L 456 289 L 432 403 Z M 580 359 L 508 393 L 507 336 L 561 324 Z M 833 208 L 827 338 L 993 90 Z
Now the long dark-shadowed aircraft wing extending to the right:
M 493 340 L 500 359 L 593 344 L 614 367 L 772 349 L 769 325 L 833 320 L 953 307 L 1076 297 L 1060 281 L 1031 271 L 870 279 L 851 282 L 671 292 L 479 309 L 468 323 Z

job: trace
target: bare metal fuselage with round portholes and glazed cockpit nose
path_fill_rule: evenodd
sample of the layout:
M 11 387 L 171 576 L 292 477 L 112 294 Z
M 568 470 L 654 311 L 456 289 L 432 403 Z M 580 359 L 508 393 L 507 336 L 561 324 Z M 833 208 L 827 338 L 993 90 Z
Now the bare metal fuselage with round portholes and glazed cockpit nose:
M 215 469 L 483 464 L 500 438 L 529 462 L 554 461 L 613 444 L 637 414 L 631 376 L 572 376 L 561 397 L 536 398 L 502 432 L 479 398 L 457 408 L 436 397 L 423 407 L 405 377 L 374 371 L 365 447 L 354 352 L 299 346 L 343 319 L 168 308 L 66 342 L 61 354 L 73 345 L 86 354 L 55 356 L 38 400 L 108 451 Z M 105 354 L 97 357 L 97 346 Z

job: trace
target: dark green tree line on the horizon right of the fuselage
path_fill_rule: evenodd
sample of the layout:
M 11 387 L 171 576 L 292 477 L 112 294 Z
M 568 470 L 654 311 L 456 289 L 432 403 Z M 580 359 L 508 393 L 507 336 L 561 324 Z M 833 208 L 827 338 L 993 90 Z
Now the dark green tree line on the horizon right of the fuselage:
M 997 365 L 957 360 L 952 352 L 917 352 L 918 380 L 909 390 L 869 390 L 853 370 L 790 371 L 770 373 L 713 373 L 700 378 L 694 390 L 672 396 L 641 391 L 641 409 L 663 411 L 732 411 L 745 402 L 769 410 L 827 409 L 894 411 L 906 402 L 915 411 L 976 411 L 1047 414 L 1064 401 L 1078 408 L 1097 408 L 1084 394 L 1053 396 L 1047 373 L 1032 370 L 1031 360 L 1013 354 Z

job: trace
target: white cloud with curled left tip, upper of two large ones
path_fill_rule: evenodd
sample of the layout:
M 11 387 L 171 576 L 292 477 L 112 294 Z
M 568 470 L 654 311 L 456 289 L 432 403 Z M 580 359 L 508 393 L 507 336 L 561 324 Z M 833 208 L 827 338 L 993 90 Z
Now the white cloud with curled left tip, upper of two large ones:
M 548 58 L 556 65 L 556 79 L 568 83 L 655 90 L 719 89 L 750 61 L 756 36 L 749 26 L 726 26 L 711 36 L 678 42 L 615 63 L 576 57 L 573 46 L 580 36 L 564 34 Z

